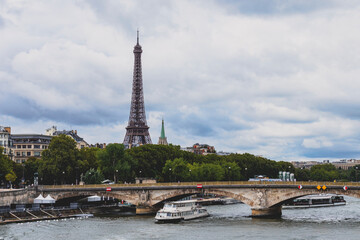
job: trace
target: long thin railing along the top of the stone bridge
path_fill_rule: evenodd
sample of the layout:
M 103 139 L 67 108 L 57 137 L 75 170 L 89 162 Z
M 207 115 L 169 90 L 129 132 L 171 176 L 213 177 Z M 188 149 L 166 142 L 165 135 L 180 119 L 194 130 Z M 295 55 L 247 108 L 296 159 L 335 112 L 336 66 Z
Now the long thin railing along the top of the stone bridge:
M 42 185 L 39 188 L 106 188 L 106 187 L 147 187 L 147 186 L 197 186 L 197 185 L 320 185 L 320 186 L 360 186 L 360 182 L 270 182 L 270 181 L 221 181 L 221 182 L 161 182 L 129 184 L 88 184 L 88 185 Z

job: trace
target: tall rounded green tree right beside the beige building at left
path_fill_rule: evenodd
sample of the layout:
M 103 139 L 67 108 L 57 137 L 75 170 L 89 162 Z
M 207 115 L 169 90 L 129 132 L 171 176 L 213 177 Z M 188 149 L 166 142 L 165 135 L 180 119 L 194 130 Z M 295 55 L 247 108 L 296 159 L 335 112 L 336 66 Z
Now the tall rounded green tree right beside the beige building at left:
M 75 183 L 79 150 L 69 136 L 53 137 L 49 148 L 42 152 L 39 174 L 45 184 Z

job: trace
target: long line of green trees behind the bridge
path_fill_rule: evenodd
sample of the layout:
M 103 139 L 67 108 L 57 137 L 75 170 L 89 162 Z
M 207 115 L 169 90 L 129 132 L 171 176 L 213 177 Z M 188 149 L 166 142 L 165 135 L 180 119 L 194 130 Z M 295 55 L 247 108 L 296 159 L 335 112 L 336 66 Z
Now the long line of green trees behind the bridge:
M 174 181 L 244 181 L 254 175 L 277 178 L 279 171 L 295 174 L 298 181 L 357 181 L 357 170 L 336 169 L 331 164 L 295 169 L 289 162 L 273 161 L 249 153 L 206 156 L 180 150 L 179 146 L 143 145 L 125 149 L 122 144 L 109 144 L 105 149 L 77 149 L 69 136 L 54 137 L 41 158 L 30 157 L 17 164 L 2 154 L 0 180 L 20 184 L 86 184 L 134 182 L 135 178 L 153 178 L 159 182 Z M 359 168 L 360 169 L 360 166 Z

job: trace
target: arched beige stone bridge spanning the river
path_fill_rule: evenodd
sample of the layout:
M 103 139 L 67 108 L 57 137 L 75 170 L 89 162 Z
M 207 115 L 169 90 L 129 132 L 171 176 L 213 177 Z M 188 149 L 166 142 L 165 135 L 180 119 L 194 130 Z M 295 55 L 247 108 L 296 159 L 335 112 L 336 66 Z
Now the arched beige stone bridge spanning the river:
M 39 186 L 37 189 L 0 192 L 0 205 L 32 203 L 40 193 L 44 196 L 50 194 L 57 201 L 98 195 L 125 200 L 137 206 L 138 214 L 144 214 L 155 212 L 164 201 L 180 199 L 196 193 L 206 193 L 240 200 L 251 207 L 252 216 L 280 216 L 284 202 L 305 195 L 334 193 L 360 198 L 359 183 L 203 182 L 202 188 L 198 188 L 197 184 L 199 183 Z M 300 185 L 301 189 L 299 189 Z M 322 188 L 318 190 L 317 187 Z

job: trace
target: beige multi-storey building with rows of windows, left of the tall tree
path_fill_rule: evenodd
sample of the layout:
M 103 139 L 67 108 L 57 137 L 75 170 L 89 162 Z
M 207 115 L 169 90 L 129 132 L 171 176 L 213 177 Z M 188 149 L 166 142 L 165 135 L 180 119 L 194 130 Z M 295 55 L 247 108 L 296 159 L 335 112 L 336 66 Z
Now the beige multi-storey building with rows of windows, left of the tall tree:
M 52 136 L 39 134 L 13 134 L 13 161 L 24 163 L 29 157 L 41 157 L 41 152 L 48 149 Z

